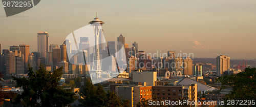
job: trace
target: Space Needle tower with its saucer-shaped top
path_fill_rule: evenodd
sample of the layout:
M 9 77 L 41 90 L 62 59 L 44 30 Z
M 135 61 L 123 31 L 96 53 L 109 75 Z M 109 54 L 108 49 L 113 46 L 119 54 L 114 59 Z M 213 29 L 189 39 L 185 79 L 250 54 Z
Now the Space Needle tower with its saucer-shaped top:
M 95 79 L 99 79 L 99 78 L 101 78 L 101 72 L 102 72 L 101 64 L 100 64 L 100 55 L 99 55 L 99 44 L 102 44 L 102 43 L 99 42 L 99 36 L 100 36 L 100 34 L 103 35 L 101 26 L 104 24 L 104 22 L 99 20 L 99 18 L 97 17 L 97 13 L 96 13 L 96 17 L 94 18 L 94 20 L 89 22 L 89 24 L 91 24 L 93 26 L 94 35 L 95 35 L 95 48 L 94 48 L 95 54 L 93 57 L 93 66 L 92 66 L 92 75 L 91 76 Z M 94 68 L 94 63 L 95 63 L 95 68 Z

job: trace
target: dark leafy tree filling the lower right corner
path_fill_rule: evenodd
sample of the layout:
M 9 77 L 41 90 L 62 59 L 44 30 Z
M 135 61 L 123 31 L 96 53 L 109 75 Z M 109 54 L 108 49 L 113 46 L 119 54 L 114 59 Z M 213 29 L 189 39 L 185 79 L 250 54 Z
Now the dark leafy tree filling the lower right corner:
M 221 90 L 227 85 L 233 88 L 231 93 L 226 95 L 225 100 L 256 99 L 256 68 L 246 68 L 245 72 L 219 77 L 217 82 L 221 82 Z

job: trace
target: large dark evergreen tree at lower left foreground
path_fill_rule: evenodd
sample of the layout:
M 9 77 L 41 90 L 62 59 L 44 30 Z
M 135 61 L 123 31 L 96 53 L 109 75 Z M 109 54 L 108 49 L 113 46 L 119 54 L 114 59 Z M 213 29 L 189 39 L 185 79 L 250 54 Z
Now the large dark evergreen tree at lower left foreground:
M 16 96 L 14 103 L 21 102 L 24 106 L 67 106 L 74 102 L 75 93 L 60 86 L 62 74 L 62 67 L 53 72 L 46 71 L 41 65 L 35 72 L 29 67 L 28 78 L 13 77 L 17 87 L 24 90 Z

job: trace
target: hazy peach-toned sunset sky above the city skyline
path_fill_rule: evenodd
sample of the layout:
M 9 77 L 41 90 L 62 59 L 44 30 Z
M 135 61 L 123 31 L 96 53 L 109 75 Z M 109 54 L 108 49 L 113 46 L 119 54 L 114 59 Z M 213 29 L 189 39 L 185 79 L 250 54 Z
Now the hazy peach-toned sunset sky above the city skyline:
M 6 17 L 0 6 L 0 44 L 28 44 L 37 51 L 37 32 L 49 32 L 50 44 L 62 44 L 72 31 L 88 25 L 95 13 L 105 22 L 107 41 L 121 33 L 131 47 L 137 41 L 146 53 L 180 51 L 189 40 L 231 58 L 256 59 L 256 1 L 167 0 L 84 1 L 42 0 L 34 8 Z M 225 51 L 224 51 L 225 50 Z M 186 49 L 184 48 L 184 51 Z M 199 51 L 200 52 L 200 51 Z M 216 57 L 203 53 L 196 57 Z

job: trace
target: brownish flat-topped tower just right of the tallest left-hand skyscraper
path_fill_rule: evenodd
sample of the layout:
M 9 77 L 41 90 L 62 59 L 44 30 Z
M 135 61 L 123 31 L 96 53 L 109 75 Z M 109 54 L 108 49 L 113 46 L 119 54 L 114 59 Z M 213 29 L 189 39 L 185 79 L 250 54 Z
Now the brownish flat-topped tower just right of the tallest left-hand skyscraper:
M 52 49 L 52 60 L 53 60 L 53 68 L 58 66 L 60 60 L 60 48 L 53 48 Z

